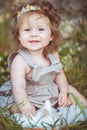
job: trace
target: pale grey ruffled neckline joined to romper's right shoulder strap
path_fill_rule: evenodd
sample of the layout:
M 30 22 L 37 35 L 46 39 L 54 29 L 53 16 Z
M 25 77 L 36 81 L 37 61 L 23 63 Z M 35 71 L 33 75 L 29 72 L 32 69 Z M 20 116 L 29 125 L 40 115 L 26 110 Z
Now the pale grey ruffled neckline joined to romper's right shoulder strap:
M 61 62 L 58 61 L 57 58 L 52 54 L 48 54 L 48 58 L 51 62 L 50 66 L 39 67 L 38 69 L 33 70 L 34 81 L 38 81 L 42 75 L 50 74 L 50 72 L 60 73 L 61 69 L 63 68 Z

